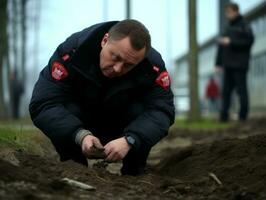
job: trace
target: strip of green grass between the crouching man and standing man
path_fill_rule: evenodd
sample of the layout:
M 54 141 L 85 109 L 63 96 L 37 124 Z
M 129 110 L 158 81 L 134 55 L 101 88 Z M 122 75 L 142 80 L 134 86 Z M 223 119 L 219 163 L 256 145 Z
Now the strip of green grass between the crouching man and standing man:
M 188 130 L 216 130 L 228 129 L 232 126 L 230 123 L 220 123 L 213 119 L 202 119 L 198 122 L 190 122 L 186 119 L 176 119 L 175 128 L 182 128 Z

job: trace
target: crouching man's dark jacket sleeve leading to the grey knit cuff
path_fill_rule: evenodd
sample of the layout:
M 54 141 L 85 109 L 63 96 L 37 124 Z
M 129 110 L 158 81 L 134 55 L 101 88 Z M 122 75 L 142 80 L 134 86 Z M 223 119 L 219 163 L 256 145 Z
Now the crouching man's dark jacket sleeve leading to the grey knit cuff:
M 75 133 L 83 124 L 65 108 L 66 103 L 72 101 L 70 95 L 72 71 L 64 65 L 69 77 L 60 81 L 54 80 L 51 75 L 54 61 L 61 62 L 59 50 L 40 73 L 33 90 L 29 111 L 33 123 L 51 139 L 62 158 L 69 149 L 77 148 Z

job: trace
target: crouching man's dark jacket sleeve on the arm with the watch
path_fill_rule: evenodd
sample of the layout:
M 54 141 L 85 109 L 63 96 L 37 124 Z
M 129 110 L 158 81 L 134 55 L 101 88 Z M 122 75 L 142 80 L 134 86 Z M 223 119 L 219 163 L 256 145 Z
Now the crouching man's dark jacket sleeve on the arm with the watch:
M 173 93 L 170 88 L 154 86 L 145 96 L 145 111 L 125 129 L 125 135 L 136 140 L 136 148 L 141 143 L 155 145 L 167 135 L 175 118 Z

